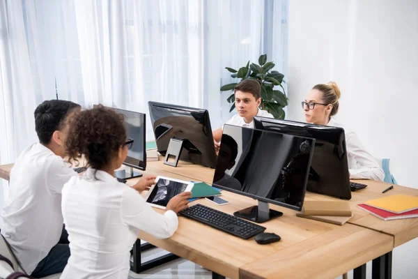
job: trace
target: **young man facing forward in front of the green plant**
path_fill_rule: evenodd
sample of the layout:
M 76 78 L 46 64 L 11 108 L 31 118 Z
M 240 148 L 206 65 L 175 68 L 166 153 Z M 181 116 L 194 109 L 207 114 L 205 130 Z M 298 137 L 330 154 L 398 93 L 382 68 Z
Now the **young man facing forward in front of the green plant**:
M 226 124 L 254 128 L 254 116 L 273 118 L 272 114 L 259 109 L 261 104 L 261 85 L 258 80 L 242 80 L 239 84 L 235 85 L 233 91 L 235 94 L 235 109 L 238 114 L 232 116 Z M 213 132 L 216 151 L 219 151 L 222 130 L 223 126 Z

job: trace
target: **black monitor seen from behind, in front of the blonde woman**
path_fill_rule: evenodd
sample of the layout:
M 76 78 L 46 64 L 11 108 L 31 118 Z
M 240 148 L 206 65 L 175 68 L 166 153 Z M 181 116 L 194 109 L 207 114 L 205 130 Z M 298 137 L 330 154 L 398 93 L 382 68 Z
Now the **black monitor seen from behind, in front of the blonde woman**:
M 350 174 L 343 128 L 254 117 L 254 127 L 316 140 L 307 190 L 351 199 Z

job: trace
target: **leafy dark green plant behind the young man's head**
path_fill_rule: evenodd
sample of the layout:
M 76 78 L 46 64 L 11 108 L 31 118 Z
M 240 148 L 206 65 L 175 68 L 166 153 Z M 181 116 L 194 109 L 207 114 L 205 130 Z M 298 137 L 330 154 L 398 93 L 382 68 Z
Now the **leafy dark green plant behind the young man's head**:
M 226 70 L 229 70 L 231 77 L 234 78 L 240 78 L 241 80 L 258 80 L 261 85 L 260 108 L 270 112 L 274 118 L 284 119 L 283 108 L 288 105 L 286 92 L 281 85 L 282 82 L 285 82 L 283 80 L 284 75 L 277 72 L 277 70 L 272 70 L 272 68 L 274 68 L 274 63 L 272 61 L 267 62 L 267 54 L 263 54 L 258 58 L 258 64 L 251 63 L 250 65 L 248 61 L 247 66 L 242 67 L 239 70 L 229 67 L 226 67 Z M 237 84 L 237 82 L 225 84 L 221 87 L 221 91 L 233 90 Z M 274 86 L 280 86 L 283 91 L 274 88 Z M 235 109 L 235 95 L 232 93 L 227 100 L 229 103 L 232 103 L 231 110 L 229 110 L 229 112 L 232 112 Z

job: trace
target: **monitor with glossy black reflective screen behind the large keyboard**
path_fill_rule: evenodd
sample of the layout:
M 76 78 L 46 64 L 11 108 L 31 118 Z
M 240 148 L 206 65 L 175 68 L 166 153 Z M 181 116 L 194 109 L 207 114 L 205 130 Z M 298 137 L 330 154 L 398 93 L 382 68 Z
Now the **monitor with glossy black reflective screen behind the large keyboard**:
M 315 140 L 225 125 L 212 185 L 258 199 L 235 216 L 263 223 L 282 215 L 278 204 L 302 210 Z

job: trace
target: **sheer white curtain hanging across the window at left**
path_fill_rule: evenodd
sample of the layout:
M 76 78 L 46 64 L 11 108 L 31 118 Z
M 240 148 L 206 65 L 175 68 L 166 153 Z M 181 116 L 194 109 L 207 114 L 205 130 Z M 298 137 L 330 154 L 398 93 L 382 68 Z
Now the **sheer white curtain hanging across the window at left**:
M 58 97 L 148 113 L 148 100 L 231 117 L 225 67 L 268 54 L 286 76 L 287 0 L 0 0 L 0 164 L 36 142 Z M 148 118 L 147 137 L 153 138 Z

